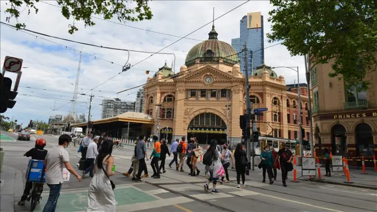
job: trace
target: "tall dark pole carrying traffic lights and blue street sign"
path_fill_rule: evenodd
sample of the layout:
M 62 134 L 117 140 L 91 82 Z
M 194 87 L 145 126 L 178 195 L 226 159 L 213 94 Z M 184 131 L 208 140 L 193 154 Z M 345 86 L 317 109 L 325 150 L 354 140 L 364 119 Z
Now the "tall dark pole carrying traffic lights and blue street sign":
M 246 155 L 247 155 L 247 161 L 248 161 L 248 168 L 250 169 L 251 166 L 251 156 L 250 156 L 250 98 L 249 98 L 249 74 L 248 74 L 248 68 L 247 68 L 247 47 L 246 42 L 243 46 L 243 56 L 245 59 L 245 90 L 246 90 Z M 253 161 L 254 163 L 254 161 Z M 254 166 L 253 166 L 254 170 Z

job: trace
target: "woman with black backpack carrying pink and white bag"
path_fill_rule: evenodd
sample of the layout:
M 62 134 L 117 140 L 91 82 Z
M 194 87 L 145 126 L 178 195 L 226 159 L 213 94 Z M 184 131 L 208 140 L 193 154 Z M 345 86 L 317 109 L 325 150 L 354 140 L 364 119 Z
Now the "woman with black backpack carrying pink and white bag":
M 212 193 L 218 193 L 218 191 L 216 189 L 216 184 L 217 184 L 218 178 L 213 177 L 213 175 L 214 175 L 214 164 L 215 164 L 216 160 L 218 160 L 220 158 L 220 153 L 218 152 L 216 145 L 217 145 L 217 141 L 215 139 L 211 140 L 211 145 L 207 150 L 207 152 L 209 152 L 209 154 L 211 156 L 208 159 L 210 163 L 206 162 L 207 164 L 210 164 L 210 165 L 206 165 L 206 170 L 209 170 L 210 176 L 208 178 L 207 183 L 204 184 L 204 191 L 208 192 L 209 184 L 212 181 Z

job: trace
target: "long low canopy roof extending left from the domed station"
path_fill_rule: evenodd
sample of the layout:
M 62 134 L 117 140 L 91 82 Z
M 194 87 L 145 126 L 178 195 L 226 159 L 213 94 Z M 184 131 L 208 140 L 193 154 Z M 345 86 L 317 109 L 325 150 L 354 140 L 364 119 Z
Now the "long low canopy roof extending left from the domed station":
M 106 118 L 106 119 L 100 119 L 93 121 L 93 124 L 106 124 L 106 123 L 112 123 L 112 122 L 132 122 L 132 123 L 140 123 L 140 124 L 155 124 L 155 120 L 145 113 L 140 112 L 125 112 L 120 115 Z M 73 124 L 72 127 L 85 127 L 87 125 L 87 122 L 82 122 L 79 124 Z

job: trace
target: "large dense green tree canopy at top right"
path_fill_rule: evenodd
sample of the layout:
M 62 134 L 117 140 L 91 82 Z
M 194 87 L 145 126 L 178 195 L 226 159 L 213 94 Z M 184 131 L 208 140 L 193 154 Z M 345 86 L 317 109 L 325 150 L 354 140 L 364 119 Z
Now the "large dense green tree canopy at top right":
M 283 41 L 291 55 L 314 55 L 314 64 L 333 59 L 330 77 L 347 86 L 377 69 L 377 0 L 270 0 L 271 41 Z

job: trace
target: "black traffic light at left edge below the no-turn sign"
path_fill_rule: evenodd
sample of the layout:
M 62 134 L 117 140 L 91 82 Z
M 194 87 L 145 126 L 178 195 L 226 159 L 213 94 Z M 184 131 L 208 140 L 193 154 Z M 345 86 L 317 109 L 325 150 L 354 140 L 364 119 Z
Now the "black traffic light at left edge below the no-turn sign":
M 11 91 L 12 79 L 4 78 L 0 73 L 0 113 L 3 113 L 7 108 L 13 108 L 16 104 L 14 99 L 17 96 L 17 92 Z

